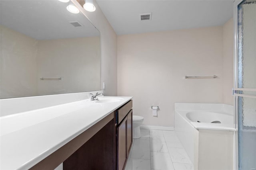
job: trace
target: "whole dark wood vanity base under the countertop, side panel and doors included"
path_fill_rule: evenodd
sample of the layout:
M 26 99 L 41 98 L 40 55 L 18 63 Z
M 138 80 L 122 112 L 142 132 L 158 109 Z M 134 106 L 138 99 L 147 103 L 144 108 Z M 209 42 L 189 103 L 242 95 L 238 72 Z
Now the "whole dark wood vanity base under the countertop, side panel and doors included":
M 63 162 L 63 170 L 123 170 L 132 146 L 132 100 L 108 115 L 104 126 L 94 126 L 84 133 L 92 135 L 88 141 L 78 139 L 82 146 Z M 104 118 L 106 119 L 106 118 Z M 100 121 L 102 122 L 102 121 Z M 88 137 L 88 135 L 86 135 Z M 64 151 L 66 152 L 66 151 Z

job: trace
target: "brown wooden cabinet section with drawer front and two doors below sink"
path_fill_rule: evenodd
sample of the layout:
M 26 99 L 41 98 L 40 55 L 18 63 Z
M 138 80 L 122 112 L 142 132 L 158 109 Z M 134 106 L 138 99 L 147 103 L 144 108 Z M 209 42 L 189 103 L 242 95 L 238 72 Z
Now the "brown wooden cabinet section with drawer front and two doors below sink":
M 123 170 L 132 146 L 132 101 L 116 111 L 116 168 Z

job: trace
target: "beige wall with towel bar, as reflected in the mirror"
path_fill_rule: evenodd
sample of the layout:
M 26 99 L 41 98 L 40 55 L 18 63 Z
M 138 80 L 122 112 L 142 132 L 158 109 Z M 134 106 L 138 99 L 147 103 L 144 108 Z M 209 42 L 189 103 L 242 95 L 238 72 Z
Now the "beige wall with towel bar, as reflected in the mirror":
M 100 89 L 100 37 L 38 41 L 38 95 Z M 40 80 L 40 77 L 60 81 Z

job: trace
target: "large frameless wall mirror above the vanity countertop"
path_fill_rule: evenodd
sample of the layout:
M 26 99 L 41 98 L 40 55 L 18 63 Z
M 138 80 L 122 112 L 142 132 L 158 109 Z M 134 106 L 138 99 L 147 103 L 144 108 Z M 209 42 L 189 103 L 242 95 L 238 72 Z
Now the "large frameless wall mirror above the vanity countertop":
M 59 0 L 0 0 L 0 98 L 100 90 L 100 32 Z

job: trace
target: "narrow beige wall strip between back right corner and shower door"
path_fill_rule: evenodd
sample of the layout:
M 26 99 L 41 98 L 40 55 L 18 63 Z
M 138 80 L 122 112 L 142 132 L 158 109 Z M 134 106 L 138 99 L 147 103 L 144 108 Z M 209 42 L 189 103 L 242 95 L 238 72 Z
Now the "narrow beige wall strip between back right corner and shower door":
M 233 18 L 223 25 L 223 103 L 233 105 L 234 84 L 234 23 Z

